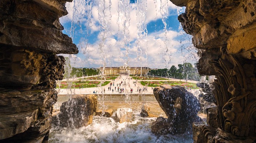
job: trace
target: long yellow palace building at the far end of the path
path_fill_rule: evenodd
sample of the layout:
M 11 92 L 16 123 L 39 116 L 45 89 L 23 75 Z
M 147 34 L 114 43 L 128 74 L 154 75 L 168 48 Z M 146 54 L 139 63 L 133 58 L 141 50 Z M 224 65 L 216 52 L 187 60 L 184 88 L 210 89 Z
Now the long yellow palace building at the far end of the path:
M 100 67 L 104 75 L 146 75 L 151 69 L 148 67 Z

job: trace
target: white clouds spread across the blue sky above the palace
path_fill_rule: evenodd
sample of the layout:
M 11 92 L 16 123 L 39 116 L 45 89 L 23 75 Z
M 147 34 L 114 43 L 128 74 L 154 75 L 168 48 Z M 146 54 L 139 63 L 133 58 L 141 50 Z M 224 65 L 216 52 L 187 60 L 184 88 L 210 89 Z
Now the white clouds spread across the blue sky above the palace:
M 87 44 L 86 40 L 80 40 L 79 44 L 77 44 L 83 56 L 73 56 L 71 58 L 71 64 L 74 64 L 75 67 L 100 67 L 102 65 L 108 67 L 127 64 L 132 67 L 170 68 L 172 65 L 177 66 L 185 61 L 195 61 L 197 56 L 190 53 L 191 51 L 195 53 L 195 48 L 191 46 L 191 41 L 188 40 L 191 37 L 183 38 L 182 42 L 180 41 L 181 38 L 178 38 L 183 36 L 184 32 L 167 29 L 166 33 L 165 30 L 150 33 L 147 37 L 142 36 L 139 38 L 140 48 L 138 48 L 136 3 L 125 5 L 122 9 L 123 11 L 118 13 L 118 2 L 120 1 L 112 0 L 111 5 L 109 1 L 106 1 L 105 13 L 102 13 L 102 8 L 99 8 L 99 4 L 102 4 L 103 1 L 93 0 L 93 4 L 91 7 L 87 7 L 87 9 L 84 9 L 85 2 L 83 1 L 75 0 L 75 3 L 66 5 L 67 10 L 70 12 L 67 19 L 69 21 L 77 21 L 79 19 L 79 22 L 82 21 L 83 24 L 90 26 L 91 33 L 101 31 L 94 44 Z M 166 5 L 161 5 L 161 1 Z M 82 12 L 88 10 L 91 11 L 90 20 L 78 17 L 79 15 L 84 16 L 85 13 Z M 156 0 L 156 3 L 153 0 L 147 0 L 145 24 L 161 19 L 168 10 L 177 11 L 178 15 L 181 11 L 184 11 L 184 8 L 179 8 L 166 0 Z M 128 17 L 125 15 L 127 11 L 129 11 Z M 169 15 L 170 13 L 167 13 L 166 16 Z M 101 20 L 101 27 L 99 26 L 99 20 Z M 67 22 L 67 20 L 63 22 Z M 80 36 L 86 37 L 84 35 Z M 119 39 L 116 40 L 117 36 L 119 36 Z M 126 47 L 125 43 L 128 41 L 131 41 L 131 45 Z M 104 46 L 100 47 L 102 44 Z

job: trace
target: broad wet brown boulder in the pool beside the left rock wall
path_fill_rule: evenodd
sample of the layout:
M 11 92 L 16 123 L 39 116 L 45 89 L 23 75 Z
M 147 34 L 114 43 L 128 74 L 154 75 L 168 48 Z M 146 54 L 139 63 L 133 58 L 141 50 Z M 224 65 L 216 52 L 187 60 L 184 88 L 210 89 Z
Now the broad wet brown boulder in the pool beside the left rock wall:
M 96 95 L 75 95 L 62 103 L 60 113 L 53 117 L 52 123 L 69 128 L 87 126 L 93 122 L 93 113 L 96 109 Z

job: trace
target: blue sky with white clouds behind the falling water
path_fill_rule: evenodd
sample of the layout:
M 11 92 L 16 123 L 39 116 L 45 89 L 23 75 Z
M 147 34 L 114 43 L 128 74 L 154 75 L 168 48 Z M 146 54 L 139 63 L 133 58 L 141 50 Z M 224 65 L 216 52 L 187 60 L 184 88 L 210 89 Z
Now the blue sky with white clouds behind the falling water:
M 191 36 L 177 16 L 185 8 L 168 0 L 74 0 L 61 17 L 63 33 L 79 53 L 68 56 L 73 67 L 170 68 L 195 63 Z M 89 3 L 89 4 L 88 4 Z M 166 27 L 165 27 L 166 22 Z M 193 52 L 193 54 L 192 54 Z

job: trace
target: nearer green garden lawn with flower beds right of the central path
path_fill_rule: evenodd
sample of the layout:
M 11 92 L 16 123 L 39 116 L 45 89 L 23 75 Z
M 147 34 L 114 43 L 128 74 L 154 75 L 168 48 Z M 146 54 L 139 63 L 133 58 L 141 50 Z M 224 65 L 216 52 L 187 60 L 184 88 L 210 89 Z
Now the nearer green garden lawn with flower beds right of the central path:
M 148 87 L 157 87 L 161 85 L 170 85 L 170 86 L 182 86 L 182 87 L 187 87 L 191 89 L 199 89 L 195 83 L 188 83 L 188 82 L 180 82 L 180 81 L 142 81 L 140 82 L 143 86 L 148 86 Z

